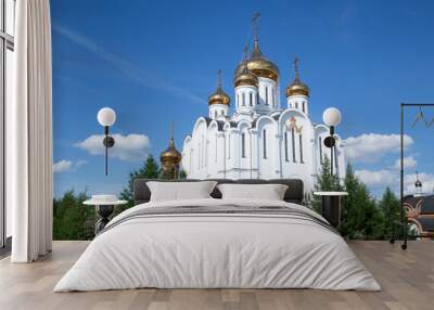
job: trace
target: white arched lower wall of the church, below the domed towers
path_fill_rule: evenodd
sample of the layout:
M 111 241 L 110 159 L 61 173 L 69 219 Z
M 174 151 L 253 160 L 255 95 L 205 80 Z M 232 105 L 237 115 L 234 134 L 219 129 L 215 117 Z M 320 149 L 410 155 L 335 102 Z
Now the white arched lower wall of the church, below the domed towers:
M 297 178 L 310 193 L 322 160 L 330 158 L 330 148 L 323 144 L 328 135 L 327 126 L 314 126 L 295 108 L 286 108 L 279 117 L 263 115 L 255 122 L 241 120 L 237 126 L 201 117 L 184 139 L 182 168 L 191 179 Z M 344 144 L 339 137 L 333 163 L 334 171 L 344 178 Z

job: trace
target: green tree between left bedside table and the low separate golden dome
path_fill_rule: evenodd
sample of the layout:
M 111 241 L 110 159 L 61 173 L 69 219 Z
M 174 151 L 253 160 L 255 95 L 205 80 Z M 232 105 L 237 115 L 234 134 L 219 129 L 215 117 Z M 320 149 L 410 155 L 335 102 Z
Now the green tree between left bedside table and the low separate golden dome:
M 123 189 L 119 195 L 120 199 L 127 201 L 128 203 L 125 205 L 117 206 L 115 214 L 120 214 L 122 211 L 135 205 L 133 184 L 137 178 L 157 179 L 158 176 L 159 176 L 158 164 L 154 159 L 154 156 L 148 155 L 141 168 L 129 172 L 128 185 Z

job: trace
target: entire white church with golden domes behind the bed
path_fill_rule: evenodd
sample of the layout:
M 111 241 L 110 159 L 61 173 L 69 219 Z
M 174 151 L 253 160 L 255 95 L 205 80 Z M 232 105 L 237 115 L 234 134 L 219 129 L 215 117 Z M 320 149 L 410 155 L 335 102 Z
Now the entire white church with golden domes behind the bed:
M 208 115 L 197 118 L 182 147 L 182 168 L 190 179 L 282 179 L 297 178 L 305 192 L 314 189 L 324 156 L 329 128 L 309 118 L 309 88 L 298 75 L 280 100 L 279 69 L 267 60 L 257 34 L 253 51 L 234 73 L 234 111 L 222 90 L 208 98 Z M 344 143 L 336 134 L 334 171 L 345 175 Z

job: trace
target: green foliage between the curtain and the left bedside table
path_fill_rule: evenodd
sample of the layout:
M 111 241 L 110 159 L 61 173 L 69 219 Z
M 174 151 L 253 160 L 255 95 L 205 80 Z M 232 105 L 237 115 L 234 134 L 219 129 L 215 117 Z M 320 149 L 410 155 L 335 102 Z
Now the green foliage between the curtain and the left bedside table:
M 53 201 L 53 240 L 90 240 L 94 230 L 94 208 L 84 206 L 87 192 L 67 191 Z

